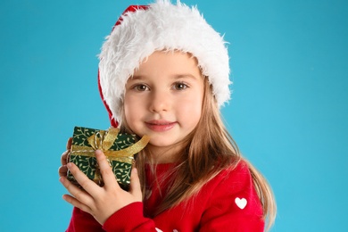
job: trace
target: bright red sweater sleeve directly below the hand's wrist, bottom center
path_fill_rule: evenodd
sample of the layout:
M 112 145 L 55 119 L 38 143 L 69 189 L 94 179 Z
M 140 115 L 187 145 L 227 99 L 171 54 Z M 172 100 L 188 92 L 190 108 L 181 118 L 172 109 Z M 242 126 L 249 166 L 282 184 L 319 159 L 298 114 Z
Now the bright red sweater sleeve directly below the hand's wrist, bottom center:
M 130 203 L 116 211 L 105 221 L 104 230 L 113 231 L 157 231 L 154 221 L 144 217 L 143 203 Z

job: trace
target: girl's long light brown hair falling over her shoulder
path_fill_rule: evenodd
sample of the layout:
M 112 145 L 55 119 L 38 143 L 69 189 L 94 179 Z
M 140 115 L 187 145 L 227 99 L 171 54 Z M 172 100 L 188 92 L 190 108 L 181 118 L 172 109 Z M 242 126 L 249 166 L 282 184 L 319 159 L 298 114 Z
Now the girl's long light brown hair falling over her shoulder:
M 121 129 L 131 133 L 127 120 L 122 110 Z M 239 161 L 244 158 L 239 153 L 238 147 L 233 138 L 225 128 L 218 104 L 212 95 L 211 85 L 207 77 L 204 77 L 204 96 L 202 116 L 196 126 L 184 141 L 181 151 L 177 153 L 178 165 L 170 174 L 171 186 L 169 192 L 164 196 L 162 203 L 155 211 L 155 215 L 166 211 L 178 203 L 185 202 L 188 198 L 199 192 L 202 186 L 211 178 L 217 176 L 221 170 L 236 167 Z M 263 209 L 263 220 L 266 220 L 269 229 L 276 217 L 276 203 L 271 188 L 261 173 L 256 170 L 250 162 L 249 170 L 253 177 L 253 185 L 261 200 Z M 145 163 L 156 164 L 150 151 L 145 148 L 138 153 L 136 167 L 142 184 L 143 196 L 145 197 Z M 151 165 L 153 167 L 153 165 Z M 154 171 L 155 168 L 153 168 Z M 173 178 L 175 177 L 175 178 Z M 160 183 L 157 183 L 160 185 Z M 153 215 L 154 216 L 154 215 Z

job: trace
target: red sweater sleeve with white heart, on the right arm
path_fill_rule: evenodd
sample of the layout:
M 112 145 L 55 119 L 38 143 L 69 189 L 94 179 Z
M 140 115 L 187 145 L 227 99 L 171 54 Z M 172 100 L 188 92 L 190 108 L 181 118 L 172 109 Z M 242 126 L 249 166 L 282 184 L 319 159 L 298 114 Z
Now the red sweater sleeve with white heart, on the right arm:
M 261 201 L 245 162 L 222 171 L 204 211 L 200 231 L 263 231 Z

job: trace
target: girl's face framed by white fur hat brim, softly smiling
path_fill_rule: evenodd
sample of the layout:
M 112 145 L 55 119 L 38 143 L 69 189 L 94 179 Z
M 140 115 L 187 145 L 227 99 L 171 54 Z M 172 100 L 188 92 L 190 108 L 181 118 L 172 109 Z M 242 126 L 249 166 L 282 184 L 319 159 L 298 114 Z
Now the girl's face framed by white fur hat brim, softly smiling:
M 186 137 L 201 118 L 203 77 L 195 58 L 154 52 L 128 79 L 124 111 L 128 127 L 157 148 Z

